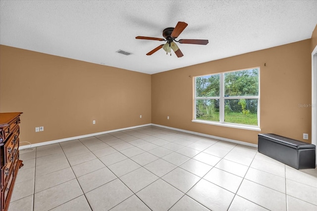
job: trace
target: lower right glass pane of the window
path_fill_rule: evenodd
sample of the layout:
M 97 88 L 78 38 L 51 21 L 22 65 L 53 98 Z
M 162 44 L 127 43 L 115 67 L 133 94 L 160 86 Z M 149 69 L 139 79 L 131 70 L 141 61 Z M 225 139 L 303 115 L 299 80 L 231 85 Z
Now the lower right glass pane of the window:
M 225 99 L 224 121 L 257 126 L 258 99 Z

